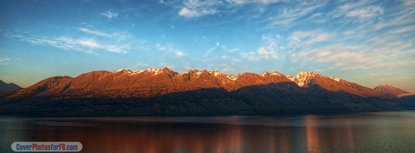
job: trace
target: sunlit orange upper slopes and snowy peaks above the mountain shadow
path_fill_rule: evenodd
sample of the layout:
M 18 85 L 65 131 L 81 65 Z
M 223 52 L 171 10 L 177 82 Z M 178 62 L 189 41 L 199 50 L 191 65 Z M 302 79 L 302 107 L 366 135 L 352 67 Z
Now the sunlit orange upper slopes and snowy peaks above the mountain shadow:
M 113 82 L 116 82 L 117 84 L 112 84 Z M 35 85 L 31 85 L 27 88 L 17 91 L 17 94 L 14 94 L 14 97 L 19 97 L 19 94 L 21 94 L 21 96 L 64 95 L 68 89 L 71 90 L 85 88 L 89 88 L 91 90 L 112 90 L 121 88 L 130 91 L 136 91 L 138 88 L 154 86 L 149 84 L 158 82 L 163 82 L 163 85 L 168 85 L 171 89 L 175 89 L 177 91 L 218 87 L 224 88 L 228 92 L 235 91 L 241 87 L 250 85 L 294 82 L 299 87 L 309 87 L 310 85 L 318 84 L 329 91 L 345 91 L 362 97 L 390 96 L 389 93 L 378 93 L 370 88 L 358 85 L 356 83 L 347 82 L 343 79 L 335 77 L 327 77 L 324 75 L 315 74 L 314 72 L 300 71 L 296 77 L 292 77 L 290 75 L 283 75 L 278 71 L 271 73 L 265 71 L 262 74 L 246 72 L 238 75 L 226 75 L 219 71 L 207 71 L 206 69 L 202 71 L 193 69 L 187 72 L 178 73 L 171 70 L 170 68 L 148 68 L 146 70 L 135 71 L 122 68 L 116 71 L 91 71 L 83 73 L 75 78 L 70 76 L 56 76 L 47 78 Z M 185 84 L 186 86 L 180 86 L 176 84 Z M 165 93 L 171 92 L 174 91 L 165 91 Z M 161 92 L 160 94 L 165 93 Z M 104 96 L 98 93 L 90 95 L 92 97 L 94 97 L 94 95 L 96 97 Z M 159 94 L 153 93 L 149 94 L 148 96 L 157 95 Z M 120 96 L 122 97 L 122 95 Z

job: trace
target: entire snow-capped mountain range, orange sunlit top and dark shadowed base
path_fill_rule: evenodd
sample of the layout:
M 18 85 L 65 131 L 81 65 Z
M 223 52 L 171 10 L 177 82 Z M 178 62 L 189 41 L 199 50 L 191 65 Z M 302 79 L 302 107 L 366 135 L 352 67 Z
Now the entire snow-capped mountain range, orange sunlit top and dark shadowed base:
M 169 68 L 47 78 L 2 94 L 1 114 L 144 115 L 352 112 L 414 109 L 398 95 L 313 72 L 225 75 Z

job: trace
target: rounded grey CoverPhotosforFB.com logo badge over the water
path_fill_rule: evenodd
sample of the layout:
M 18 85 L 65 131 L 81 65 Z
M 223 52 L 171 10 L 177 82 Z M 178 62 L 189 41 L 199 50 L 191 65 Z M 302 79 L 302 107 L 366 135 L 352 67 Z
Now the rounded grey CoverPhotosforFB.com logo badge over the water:
M 79 152 L 80 142 L 13 142 L 15 152 Z

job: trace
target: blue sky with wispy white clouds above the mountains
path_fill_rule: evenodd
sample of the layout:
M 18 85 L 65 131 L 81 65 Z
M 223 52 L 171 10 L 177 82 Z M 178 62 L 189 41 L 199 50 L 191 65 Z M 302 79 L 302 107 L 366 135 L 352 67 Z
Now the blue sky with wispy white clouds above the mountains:
M 0 80 L 313 71 L 415 93 L 415 0 L 0 0 Z

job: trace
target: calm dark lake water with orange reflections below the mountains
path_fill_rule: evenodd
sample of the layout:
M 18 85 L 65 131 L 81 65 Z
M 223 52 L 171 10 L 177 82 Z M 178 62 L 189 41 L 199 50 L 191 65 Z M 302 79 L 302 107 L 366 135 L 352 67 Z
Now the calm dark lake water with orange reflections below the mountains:
M 85 153 L 415 153 L 415 112 L 300 116 L 0 116 L 15 141 L 78 141 Z

